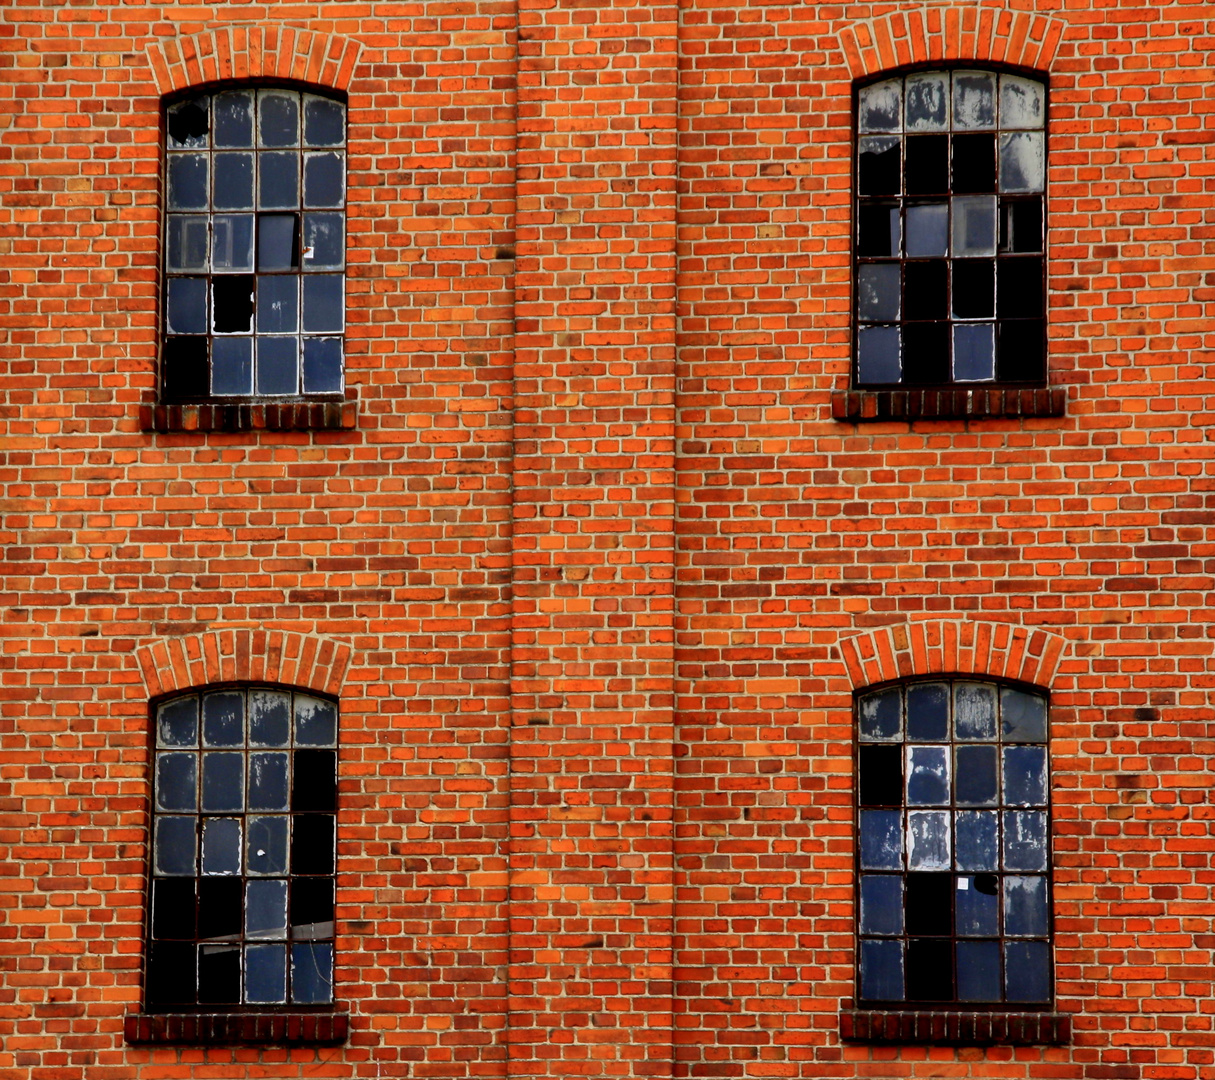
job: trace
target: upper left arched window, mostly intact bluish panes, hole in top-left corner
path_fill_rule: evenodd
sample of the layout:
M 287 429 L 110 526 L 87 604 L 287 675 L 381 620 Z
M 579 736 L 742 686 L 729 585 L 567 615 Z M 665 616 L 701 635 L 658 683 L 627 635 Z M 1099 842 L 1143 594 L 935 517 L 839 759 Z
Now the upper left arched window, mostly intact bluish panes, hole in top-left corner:
M 345 112 L 292 90 L 169 107 L 166 398 L 341 392 Z

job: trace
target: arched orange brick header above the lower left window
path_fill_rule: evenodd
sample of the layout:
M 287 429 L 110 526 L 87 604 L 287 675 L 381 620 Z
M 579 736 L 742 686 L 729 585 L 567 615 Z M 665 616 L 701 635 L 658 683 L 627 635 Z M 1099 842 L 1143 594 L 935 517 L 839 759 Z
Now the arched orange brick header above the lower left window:
M 350 656 L 344 641 L 259 629 L 160 638 L 135 650 L 148 697 L 211 683 L 282 683 L 337 697 Z

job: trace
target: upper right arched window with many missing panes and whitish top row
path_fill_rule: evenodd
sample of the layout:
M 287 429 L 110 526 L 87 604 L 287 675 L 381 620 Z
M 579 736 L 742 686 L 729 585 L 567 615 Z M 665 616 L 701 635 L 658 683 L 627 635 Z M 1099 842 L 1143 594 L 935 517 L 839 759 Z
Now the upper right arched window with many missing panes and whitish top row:
M 1041 383 L 1046 87 L 919 72 L 860 90 L 859 385 Z

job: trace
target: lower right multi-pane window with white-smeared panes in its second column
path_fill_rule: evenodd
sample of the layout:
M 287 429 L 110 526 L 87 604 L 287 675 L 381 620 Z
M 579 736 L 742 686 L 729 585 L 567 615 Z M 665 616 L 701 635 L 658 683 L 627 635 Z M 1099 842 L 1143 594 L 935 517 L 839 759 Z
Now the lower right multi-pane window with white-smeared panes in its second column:
M 1049 1003 L 1046 700 L 910 683 L 858 723 L 860 1000 Z

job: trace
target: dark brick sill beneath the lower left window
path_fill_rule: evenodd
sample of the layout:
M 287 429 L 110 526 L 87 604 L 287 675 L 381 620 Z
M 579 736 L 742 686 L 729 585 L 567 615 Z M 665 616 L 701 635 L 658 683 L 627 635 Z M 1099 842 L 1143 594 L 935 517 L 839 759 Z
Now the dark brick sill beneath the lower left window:
M 345 1042 L 349 1030 L 341 1012 L 175 1012 L 130 1013 L 123 1034 L 136 1045 L 333 1046 Z

